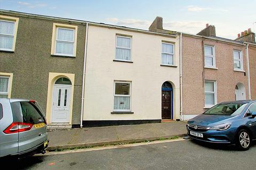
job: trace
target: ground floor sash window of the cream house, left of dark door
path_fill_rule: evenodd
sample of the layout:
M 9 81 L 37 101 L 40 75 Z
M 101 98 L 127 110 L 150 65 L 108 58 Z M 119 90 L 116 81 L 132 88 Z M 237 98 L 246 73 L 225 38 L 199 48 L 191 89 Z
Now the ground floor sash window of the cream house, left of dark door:
M 131 82 L 114 82 L 114 111 L 131 111 Z

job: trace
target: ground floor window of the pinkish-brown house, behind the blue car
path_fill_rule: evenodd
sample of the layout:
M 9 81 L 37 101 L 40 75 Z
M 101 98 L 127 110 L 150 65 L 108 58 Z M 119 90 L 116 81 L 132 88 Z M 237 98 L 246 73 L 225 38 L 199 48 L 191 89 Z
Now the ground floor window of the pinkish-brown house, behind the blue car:
M 216 82 L 215 81 L 205 81 L 204 82 L 204 105 L 205 107 L 212 107 L 217 104 L 217 92 L 216 92 Z

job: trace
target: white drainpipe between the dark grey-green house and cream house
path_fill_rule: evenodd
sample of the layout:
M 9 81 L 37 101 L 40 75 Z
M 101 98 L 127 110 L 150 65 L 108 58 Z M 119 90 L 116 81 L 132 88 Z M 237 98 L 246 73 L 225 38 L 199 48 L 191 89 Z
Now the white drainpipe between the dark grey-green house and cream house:
M 80 127 L 83 128 L 83 114 L 84 114 L 84 87 L 85 87 L 85 68 L 86 68 L 86 56 L 87 56 L 87 43 L 88 43 L 88 22 L 86 22 L 85 32 L 85 46 L 84 46 L 84 69 L 83 69 L 83 85 L 82 85 L 82 103 L 81 103 L 81 121 Z

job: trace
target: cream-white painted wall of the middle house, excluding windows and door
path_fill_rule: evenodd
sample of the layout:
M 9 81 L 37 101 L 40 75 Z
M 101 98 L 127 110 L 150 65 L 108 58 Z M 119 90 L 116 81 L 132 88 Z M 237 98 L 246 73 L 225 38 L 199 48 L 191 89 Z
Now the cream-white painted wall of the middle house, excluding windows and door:
M 174 89 L 174 120 L 180 118 L 179 39 L 89 25 L 83 120 L 160 120 L 162 84 Z M 116 34 L 132 36 L 133 63 L 113 62 Z M 174 65 L 160 66 L 162 41 L 175 43 Z M 131 81 L 131 112 L 111 114 L 114 80 Z

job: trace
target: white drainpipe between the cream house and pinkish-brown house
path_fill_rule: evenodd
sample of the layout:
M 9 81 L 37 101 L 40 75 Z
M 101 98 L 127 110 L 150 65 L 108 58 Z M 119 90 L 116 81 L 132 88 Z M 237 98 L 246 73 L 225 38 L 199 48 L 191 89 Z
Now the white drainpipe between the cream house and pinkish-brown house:
M 183 98 L 182 98 L 182 32 L 180 32 L 180 119 L 184 120 L 183 117 Z

